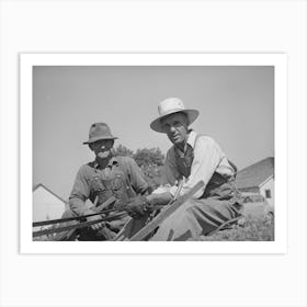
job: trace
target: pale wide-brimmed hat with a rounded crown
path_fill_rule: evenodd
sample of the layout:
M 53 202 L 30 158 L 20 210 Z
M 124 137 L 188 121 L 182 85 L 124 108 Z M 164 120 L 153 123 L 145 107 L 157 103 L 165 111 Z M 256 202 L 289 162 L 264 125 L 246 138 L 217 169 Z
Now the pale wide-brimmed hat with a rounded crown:
M 191 125 L 198 116 L 197 110 L 185 109 L 183 102 L 178 98 L 168 98 L 158 105 L 159 117 L 156 118 L 150 127 L 157 133 L 164 133 L 161 120 L 174 113 L 184 113 L 187 116 L 189 125 Z

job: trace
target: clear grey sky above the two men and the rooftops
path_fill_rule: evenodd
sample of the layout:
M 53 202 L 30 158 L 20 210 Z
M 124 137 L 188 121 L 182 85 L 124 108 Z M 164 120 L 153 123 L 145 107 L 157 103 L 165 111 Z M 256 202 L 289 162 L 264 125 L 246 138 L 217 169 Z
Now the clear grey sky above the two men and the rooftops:
M 132 150 L 171 144 L 150 129 L 158 103 L 180 98 L 200 111 L 191 125 L 213 137 L 239 170 L 274 156 L 274 68 L 235 66 L 36 66 L 33 70 L 33 185 L 67 200 L 79 168 L 93 160 L 92 123 L 109 124 Z

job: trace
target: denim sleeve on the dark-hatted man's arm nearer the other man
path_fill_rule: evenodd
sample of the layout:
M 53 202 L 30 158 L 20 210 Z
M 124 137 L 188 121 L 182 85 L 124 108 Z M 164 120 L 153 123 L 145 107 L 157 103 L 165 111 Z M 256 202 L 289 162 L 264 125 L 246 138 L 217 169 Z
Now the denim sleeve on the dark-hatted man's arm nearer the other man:
M 144 194 L 148 190 L 149 184 L 145 180 L 140 168 L 137 166 L 136 161 L 129 157 L 126 157 L 125 161 L 132 186 L 136 193 Z

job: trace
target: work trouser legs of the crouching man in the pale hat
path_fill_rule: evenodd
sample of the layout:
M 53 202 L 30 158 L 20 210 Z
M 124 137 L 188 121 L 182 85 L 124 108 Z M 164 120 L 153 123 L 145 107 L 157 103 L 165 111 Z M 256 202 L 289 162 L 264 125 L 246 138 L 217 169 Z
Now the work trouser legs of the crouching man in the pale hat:
M 240 216 L 241 194 L 234 181 L 215 184 L 212 182 L 202 198 L 187 200 L 160 225 L 148 240 L 186 241 L 206 236 L 224 223 Z M 147 224 L 148 217 L 130 219 L 116 237 L 128 240 Z

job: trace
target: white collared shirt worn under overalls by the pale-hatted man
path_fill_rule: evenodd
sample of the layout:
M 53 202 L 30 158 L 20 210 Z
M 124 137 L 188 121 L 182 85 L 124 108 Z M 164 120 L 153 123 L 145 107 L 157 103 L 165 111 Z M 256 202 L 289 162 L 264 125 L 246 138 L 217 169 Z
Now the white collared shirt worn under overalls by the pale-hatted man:
M 184 179 L 183 186 L 179 194 L 185 194 L 200 180 L 203 180 L 205 183 L 204 187 L 198 190 L 193 198 L 202 196 L 214 172 L 218 172 L 226 177 L 235 174 L 235 170 L 229 164 L 218 144 L 213 138 L 203 135 L 198 136 L 196 140 L 196 136 L 197 134 L 192 130 L 187 137 L 187 145 L 194 148 L 194 159 L 191 167 L 191 174 L 189 178 Z M 172 185 L 169 189 L 169 192 L 174 196 L 178 190 L 178 186 L 174 185 L 174 183 L 181 177 L 175 167 L 174 146 L 168 150 L 164 171 L 168 182 Z

